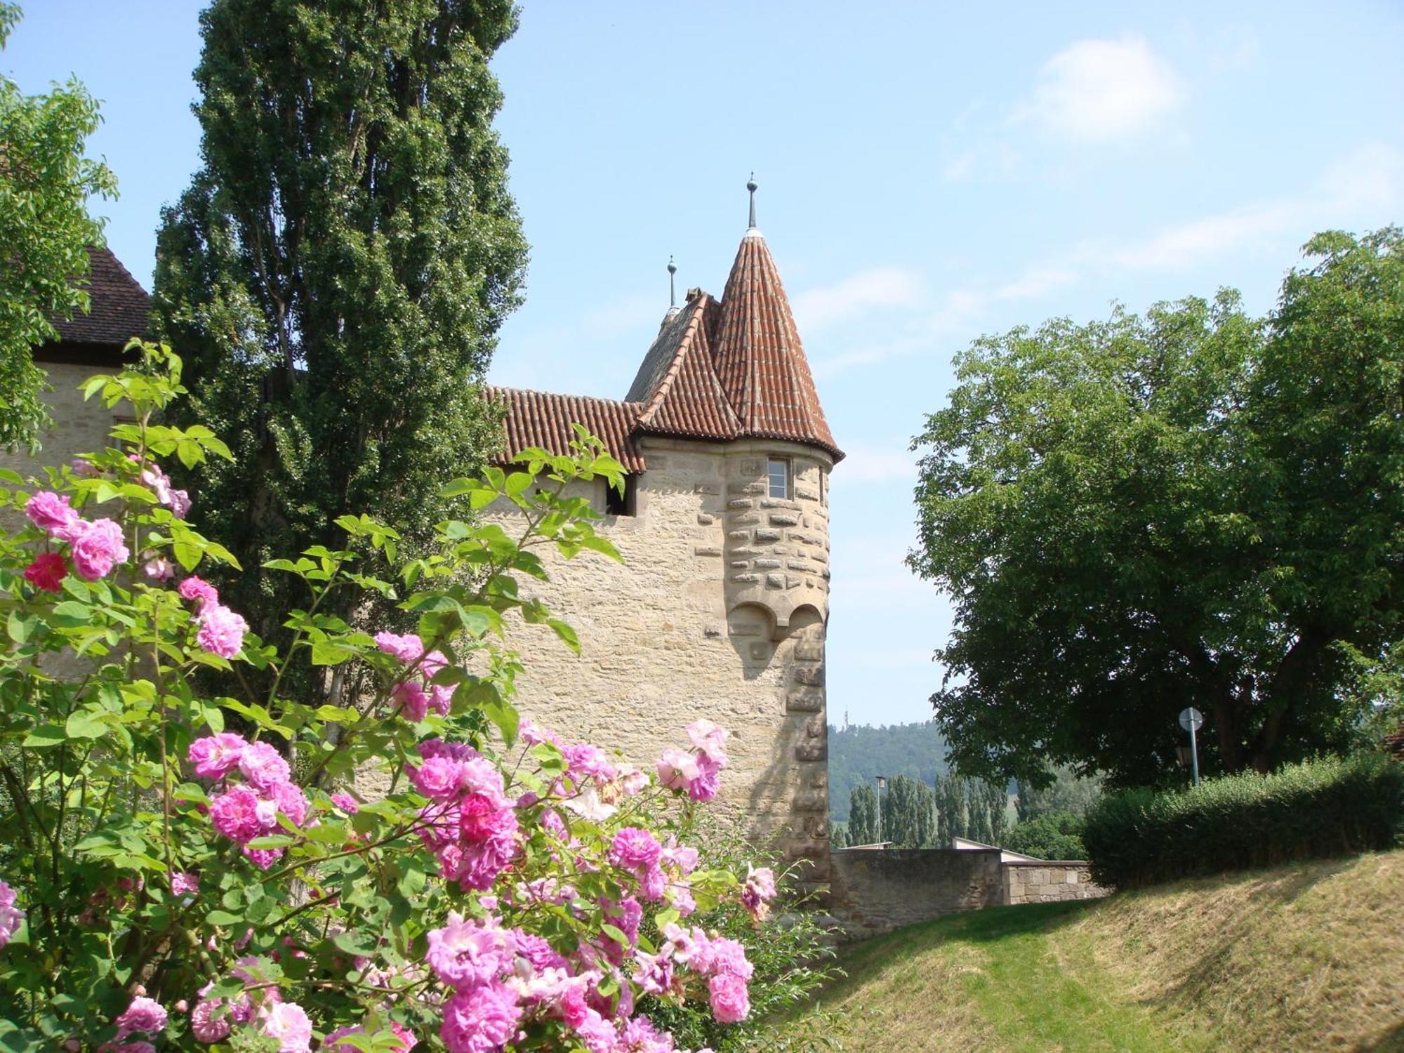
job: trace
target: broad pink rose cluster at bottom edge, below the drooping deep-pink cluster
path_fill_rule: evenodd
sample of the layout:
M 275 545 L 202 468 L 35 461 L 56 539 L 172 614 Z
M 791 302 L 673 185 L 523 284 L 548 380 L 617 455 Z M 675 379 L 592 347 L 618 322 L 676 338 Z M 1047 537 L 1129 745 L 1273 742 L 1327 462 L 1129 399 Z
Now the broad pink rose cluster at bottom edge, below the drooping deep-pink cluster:
M 484 897 L 491 907 L 496 903 Z M 590 1053 L 673 1053 L 673 1038 L 633 1014 L 626 981 L 602 991 L 604 973 L 581 948 L 576 960 L 541 936 L 483 920 L 448 915 L 431 929 L 425 960 L 452 988 L 439 1031 L 449 1053 L 496 1053 L 531 1024 L 559 1024 Z M 622 977 L 619 977 L 622 980 Z

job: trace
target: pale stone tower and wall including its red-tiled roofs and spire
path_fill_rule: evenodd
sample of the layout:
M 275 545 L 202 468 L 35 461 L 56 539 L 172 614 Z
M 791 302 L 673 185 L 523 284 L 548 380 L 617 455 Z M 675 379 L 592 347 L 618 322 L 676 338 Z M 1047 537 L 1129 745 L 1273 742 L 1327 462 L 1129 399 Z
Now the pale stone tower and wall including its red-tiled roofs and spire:
M 629 472 L 622 498 L 591 494 L 625 563 L 556 562 L 539 590 L 581 656 L 528 630 L 518 705 L 640 765 L 716 720 L 731 731 L 724 806 L 824 880 L 828 475 L 842 453 L 748 188 L 722 298 L 691 289 L 668 310 L 623 400 L 493 389 L 505 453 L 564 452 L 580 423 Z

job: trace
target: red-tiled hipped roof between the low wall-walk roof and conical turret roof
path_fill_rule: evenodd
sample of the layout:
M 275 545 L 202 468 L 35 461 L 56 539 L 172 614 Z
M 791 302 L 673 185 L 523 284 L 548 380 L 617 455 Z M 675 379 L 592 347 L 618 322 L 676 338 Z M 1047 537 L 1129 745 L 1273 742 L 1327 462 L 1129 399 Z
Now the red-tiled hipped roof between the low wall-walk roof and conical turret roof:
M 709 439 L 741 434 L 712 365 L 709 322 L 715 323 L 716 313 L 716 300 L 696 292 L 664 320 L 628 395 L 643 403 L 642 431 Z

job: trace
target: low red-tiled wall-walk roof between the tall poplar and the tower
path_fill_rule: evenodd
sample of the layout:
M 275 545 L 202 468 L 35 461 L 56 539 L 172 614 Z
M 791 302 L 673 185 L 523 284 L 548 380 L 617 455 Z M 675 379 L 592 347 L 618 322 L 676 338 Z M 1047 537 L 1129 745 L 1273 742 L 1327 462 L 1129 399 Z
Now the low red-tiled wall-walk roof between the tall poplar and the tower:
M 483 393 L 493 402 L 507 404 L 503 421 L 505 445 L 503 461 L 528 446 L 541 446 L 552 453 L 569 453 L 576 438 L 571 424 L 581 424 L 605 444 L 609 453 L 628 472 L 643 472 L 644 462 L 633 444 L 632 434 L 643 409 L 635 402 L 590 399 L 581 395 L 550 395 L 524 388 L 487 386 Z

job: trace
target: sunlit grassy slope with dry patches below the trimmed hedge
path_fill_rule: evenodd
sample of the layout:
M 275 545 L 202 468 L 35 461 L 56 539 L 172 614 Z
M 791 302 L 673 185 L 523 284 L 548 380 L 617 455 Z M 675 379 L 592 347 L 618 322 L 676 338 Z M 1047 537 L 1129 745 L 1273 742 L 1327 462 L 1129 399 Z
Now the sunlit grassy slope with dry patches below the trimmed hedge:
M 953 915 L 844 967 L 776 1047 L 1404 1050 L 1404 852 Z

